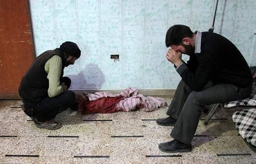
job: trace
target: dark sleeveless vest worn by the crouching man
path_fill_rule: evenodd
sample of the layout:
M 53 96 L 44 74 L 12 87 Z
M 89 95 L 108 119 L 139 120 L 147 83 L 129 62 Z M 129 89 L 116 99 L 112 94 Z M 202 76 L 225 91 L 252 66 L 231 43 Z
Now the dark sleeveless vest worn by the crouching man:
M 34 60 L 21 80 L 19 95 L 26 102 L 38 103 L 48 97 L 49 81 L 47 79 L 48 74 L 45 72 L 44 66 L 45 63 L 54 55 L 58 55 L 62 59 L 61 77 L 63 77 L 65 59 L 59 48 L 42 53 Z

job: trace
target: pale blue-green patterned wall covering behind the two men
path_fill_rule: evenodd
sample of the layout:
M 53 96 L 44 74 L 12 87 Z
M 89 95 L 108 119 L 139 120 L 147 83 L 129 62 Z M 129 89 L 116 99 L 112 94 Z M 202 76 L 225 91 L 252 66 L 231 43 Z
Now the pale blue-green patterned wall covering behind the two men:
M 73 90 L 175 89 L 180 77 L 165 58 L 174 24 L 212 26 L 216 0 L 30 0 L 36 55 L 65 41 L 81 57 L 65 68 Z M 214 32 L 256 65 L 256 1 L 219 0 Z M 110 59 L 119 54 L 120 60 Z M 183 60 L 188 57 L 183 55 Z

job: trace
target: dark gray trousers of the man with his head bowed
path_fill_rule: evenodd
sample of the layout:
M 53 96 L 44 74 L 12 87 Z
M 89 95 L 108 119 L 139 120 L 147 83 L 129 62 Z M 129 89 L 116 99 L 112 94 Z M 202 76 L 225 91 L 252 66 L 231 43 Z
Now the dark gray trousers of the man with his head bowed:
M 213 85 L 209 82 L 202 91 L 192 91 L 183 80 L 175 91 L 166 114 L 176 120 L 171 137 L 191 144 L 202 108 L 205 105 L 229 102 L 249 97 L 252 86 L 238 88 L 231 84 Z

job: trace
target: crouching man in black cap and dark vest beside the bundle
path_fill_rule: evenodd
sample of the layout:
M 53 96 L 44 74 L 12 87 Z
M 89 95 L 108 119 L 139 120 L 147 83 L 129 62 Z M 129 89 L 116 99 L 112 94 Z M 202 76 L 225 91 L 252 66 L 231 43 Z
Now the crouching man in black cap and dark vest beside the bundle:
M 61 123 L 53 118 L 82 100 L 81 95 L 68 91 L 71 80 L 63 77 L 64 67 L 74 64 L 81 55 L 78 46 L 65 42 L 60 48 L 48 50 L 38 56 L 21 80 L 19 95 L 25 114 L 34 120 L 36 127 L 59 129 Z

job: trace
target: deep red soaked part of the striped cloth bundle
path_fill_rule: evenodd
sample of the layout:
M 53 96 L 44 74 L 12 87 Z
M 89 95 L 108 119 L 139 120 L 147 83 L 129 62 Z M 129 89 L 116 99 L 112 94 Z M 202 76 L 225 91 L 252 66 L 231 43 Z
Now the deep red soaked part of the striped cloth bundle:
M 114 113 L 118 112 L 116 105 L 121 100 L 124 100 L 122 96 L 119 97 L 103 97 L 97 100 L 86 101 L 82 100 L 78 104 L 78 110 L 82 114 L 90 113 Z

